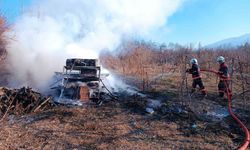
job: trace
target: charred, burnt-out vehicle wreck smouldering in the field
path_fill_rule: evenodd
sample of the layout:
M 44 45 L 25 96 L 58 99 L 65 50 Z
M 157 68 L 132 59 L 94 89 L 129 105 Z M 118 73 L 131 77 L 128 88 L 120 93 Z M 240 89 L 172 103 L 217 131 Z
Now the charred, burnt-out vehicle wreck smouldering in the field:
M 101 69 L 97 59 L 72 58 L 66 60 L 57 87 L 60 99 L 89 100 L 100 99 Z

